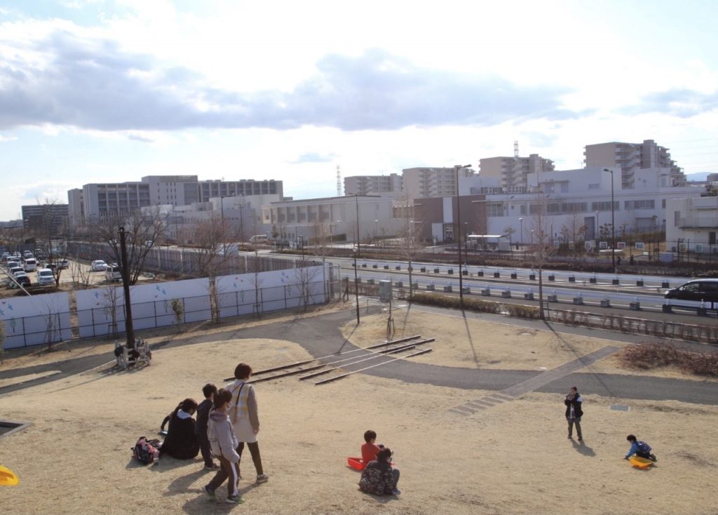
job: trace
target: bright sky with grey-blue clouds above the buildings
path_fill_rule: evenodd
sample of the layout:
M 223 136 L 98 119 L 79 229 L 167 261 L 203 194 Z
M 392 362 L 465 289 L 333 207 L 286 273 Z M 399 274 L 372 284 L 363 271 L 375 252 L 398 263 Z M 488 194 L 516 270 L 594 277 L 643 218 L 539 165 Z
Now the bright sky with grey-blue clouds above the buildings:
M 653 139 L 718 172 L 718 2 L 0 0 L 0 220 L 145 175 L 342 177 Z

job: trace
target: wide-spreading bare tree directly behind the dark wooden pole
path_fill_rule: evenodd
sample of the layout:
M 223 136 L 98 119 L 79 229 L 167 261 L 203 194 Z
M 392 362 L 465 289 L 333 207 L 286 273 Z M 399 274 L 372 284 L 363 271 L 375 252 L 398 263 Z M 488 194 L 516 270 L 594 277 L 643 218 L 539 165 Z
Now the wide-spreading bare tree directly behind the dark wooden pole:
M 161 241 L 167 233 L 167 215 L 157 208 L 134 210 L 129 215 L 109 215 L 100 221 L 95 221 L 91 234 L 101 243 L 107 243 L 110 261 L 121 263 L 120 243 L 118 231 L 125 228 L 125 241 L 127 247 L 127 263 L 129 266 L 130 284 L 136 284 L 144 267 L 147 254 L 154 243 Z

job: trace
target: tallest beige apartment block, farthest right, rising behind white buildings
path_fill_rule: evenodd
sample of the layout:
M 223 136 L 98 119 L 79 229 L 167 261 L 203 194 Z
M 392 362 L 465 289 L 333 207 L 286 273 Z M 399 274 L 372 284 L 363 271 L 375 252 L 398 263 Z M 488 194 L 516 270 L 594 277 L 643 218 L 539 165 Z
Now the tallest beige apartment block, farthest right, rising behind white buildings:
M 686 185 L 686 176 L 671 159 L 671 153 L 666 147 L 656 144 L 653 139 L 646 139 L 643 143 L 600 143 L 586 145 L 584 149 L 584 162 L 587 168 L 613 168 L 621 170 L 621 187 L 631 189 L 635 186 L 637 170 L 651 168 L 666 168 L 670 170 L 666 186 Z

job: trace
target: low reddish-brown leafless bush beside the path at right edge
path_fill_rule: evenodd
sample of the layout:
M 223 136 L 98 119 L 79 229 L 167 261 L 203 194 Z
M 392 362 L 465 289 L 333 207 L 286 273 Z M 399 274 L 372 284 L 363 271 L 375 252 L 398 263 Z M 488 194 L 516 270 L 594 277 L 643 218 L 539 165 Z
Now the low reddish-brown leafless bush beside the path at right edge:
M 686 351 L 670 344 L 638 343 L 623 348 L 618 358 L 625 366 L 641 370 L 676 366 L 696 376 L 718 376 L 718 351 L 702 353 Z

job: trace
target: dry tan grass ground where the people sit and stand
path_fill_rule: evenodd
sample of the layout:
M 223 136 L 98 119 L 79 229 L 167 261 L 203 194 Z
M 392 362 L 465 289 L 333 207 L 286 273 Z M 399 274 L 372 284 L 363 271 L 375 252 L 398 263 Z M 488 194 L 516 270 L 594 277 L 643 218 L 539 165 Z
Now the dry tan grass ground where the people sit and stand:
M 432 353 L 415 358 L 425 363 L 553 368 L 615 344 L 512 328 L 508 319 L 465 323 L 418 310 L 400 314 L 397 337 L 437 338 Z M 243 462 L 241 506 L 224 504 L 224 489 L 216 503 L 202 496 L 200 486 L 212 473 L 199 459 L 137 465 L 130 452 L 136 438 L 155 437 L 164 415 L 185 396 L 198 399 L 205 382 L 221 384 L 239 361 L 261 369 L 309 358 L 291 333 L 272 335 L 269 327 L 266 339 L 167 345 L 147 368 L 101 366 L 0 396 L 2 418 L 32 422 L 0 439 L 0 464 L 21 480 L 0 486 L 3 513 L 718 513 L 718 447 L 712 444 L 718 406 L 587 396 L 579 446 L 567 440 L 561 396 L 531 393 L 460 416 L 447 410 L 489 392 L 363 374 L 324 386 L 291 377 L 256 385 L 270 480 L 254 484 L 251 460 Z M 354 323 L 342 328 L 345 334 L 354 329 Z M 384 335 L 386 316 L 366 316 L 351 339 L 363 346 Z M 595 371 L 614 368 L 610 358 L 595 364 Z M 630 410 L 610 409 L 616 403 Z M 366 429 L 395 451 L 401 496 L 358 491 L 359 475 L 346 457 L 358 454 Z M 629 432 L 651 443 L 656 466 L 637 470 L 623 460 Z

